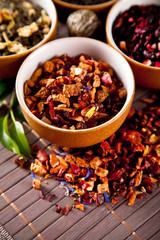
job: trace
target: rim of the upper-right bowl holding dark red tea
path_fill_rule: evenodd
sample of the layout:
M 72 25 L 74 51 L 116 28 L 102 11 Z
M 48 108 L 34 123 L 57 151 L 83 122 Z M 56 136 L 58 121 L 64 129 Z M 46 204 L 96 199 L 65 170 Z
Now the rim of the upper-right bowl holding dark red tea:
M 132 59 L 130 58 L 127 54 L 125 54 L 118 46 L 117 44 L 115 43 L 114 39 L 113 39 L 113 34 L 112 34 L 112 26 L 113 26 L 113 22 L 111 22 L 110 18 L 113 17 L 113 14 L 114 14 L 114 11 L 115 9 L 120 9 L 118 14 L 121 12 L 121 6 L 124 5 L 124 2 L 126 0 L 123 0 L 123 1 L 118 1 L 116 2 L 112 7 L 111 9 L 109 10 L 108 12 L 108 15 L 106 17 L 106 23 L 105 23 L 105 30 L 106 30 L 106 38 L 107 38 L 107 41 L 110 42 L 110 44 L 112 44 L 112 46 L 118 51 L 120 52 L 123 57 L 125 57 L 127 59 L 127 61 L 131 62 L 132 64 L 136 64 L 136 65 L 139 65 L 140 67 L 143 67 L 143 68 L 146 68 L 146 69 L 150 69 L 150 70 L 157 70 L 157 71 L 160 71 L 160 67 L 155 67 L 155 66 L 148 66 L 148 65 L 145 65 L 144 63 L 141 63 L 141 62 L 138 62 L 137 60 L 135 59 Z M 148 3 L 142 3 L 140 1 L 137 1 L 138 2 L 138 5 L 152 5 L 152 0 L 151 2 L 148 2 Z M 160 5 L 160 2 L 156 2 L 154 0 L 154 3 L 156 5 Z M 137 3 L 136 3 L 137 4 Z M 131 6 L 133 5 L 136 5 L 135 4 L 135 0 L 130 0 L 129 1 L 129 7 L 126 8 L 126 9 L 129 9 Z M 114 16 L 114 20 L 116 19 L 116 17 L 118 16 L 118 14 L 116 16 Z

